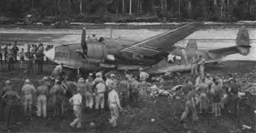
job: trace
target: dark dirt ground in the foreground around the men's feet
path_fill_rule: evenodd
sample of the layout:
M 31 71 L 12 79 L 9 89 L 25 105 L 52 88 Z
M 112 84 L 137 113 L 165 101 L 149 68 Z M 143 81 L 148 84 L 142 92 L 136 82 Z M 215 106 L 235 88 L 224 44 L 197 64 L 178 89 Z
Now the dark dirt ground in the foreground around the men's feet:
M 18 64 L 17 64 L 18 65 Z M 21 71 L 16 65 L 16 70 L 8 72 L 4 68 L 1 71 L 1 83 L 6 79 L 12 78 L 15 82 L 16 89 L 19 90 L 24 77 L 24 70 Z M 206 73 L 226 75 L 233 74 L 235 77 L 244 78 L 247 82 L 256 83 L 255 78 L 255 62 L 252 61 L 229 61 L 223 63 L 223 66 L 209 65 Z M 3 65 L 1 65 L 3 66 Z M 44 75 L 50 74 L 53 66 L 45 65 L 44 73 L 33 74 L 29 78 L 35 81 Z M 31 69 L 31 68 L 30 68 Z M 183 77 L 189 73 L 177 73 L 172 77 L 165 77 L 163 84 L 164 88 L 172 88 L 172 86 L 182 84 Z M 240 84 L 243 81 L 239 81 Z M 3 85 L 2 85 L 3 86 Z M 243 87 L 242 87 L 243 88 Z M 245 90 L 240 90 L 241 92 Z M 199 115 L 199 121 L 193 122 L 191 117 L 188 117 L 185 125 L 180 124 L 180 117 L 184 110 L 184 96 L 179 98 L 168 99 L 167 97 L 147 97 L 138 105 L 129 105 L 124 107 L 125 112 L 120 113 L 118 118 L 118 127 L 112 128 L 108 123 L 110 118 L 109 110 L 104 110 L 103 113 L 83 111 L 82 129 L 73 129 L 69 124 L 74 119 L 73 112 L 67 111 L 60 118 L 52 117 L 52 105 L 48 105 L 48 119 L 35 117 L 33 114 L 32 120 L 24 119 L 22 107 L 17 105 L 16 114 L 13 122 L 16 122 L 13 128 L 7 128 L 3 119 L 1 120 L 0 132 L 254 132 L 255 129 L 255 109 L 254 97 L 246 95 L 241 100 L 239 117 L 233 117 L 226 113 L 225 109 L 221 117 L 214 117 L 211 114 Z M 36 107 L 34 107 L 34 112 Z M 151 122 L 155 119 L 155 122 Z M 91 127 L 90 123 L 94 122 L 95 127 Z M 251 129 L 242 129 L 242 125 L 248 125 Z

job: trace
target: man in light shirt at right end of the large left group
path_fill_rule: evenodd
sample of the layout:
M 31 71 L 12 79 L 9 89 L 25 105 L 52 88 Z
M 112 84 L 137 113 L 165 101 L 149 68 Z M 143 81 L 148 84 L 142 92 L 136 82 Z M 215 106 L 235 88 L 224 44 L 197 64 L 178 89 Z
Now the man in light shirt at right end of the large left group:
M 146 91 L 146 80 L 150 75 L 147 74 L 146 72 L 144 72 L 142 68 L 140 68 L 139 71 L 140 71 L 139 93 L 143 97 L 145 95 L 145 91 Z

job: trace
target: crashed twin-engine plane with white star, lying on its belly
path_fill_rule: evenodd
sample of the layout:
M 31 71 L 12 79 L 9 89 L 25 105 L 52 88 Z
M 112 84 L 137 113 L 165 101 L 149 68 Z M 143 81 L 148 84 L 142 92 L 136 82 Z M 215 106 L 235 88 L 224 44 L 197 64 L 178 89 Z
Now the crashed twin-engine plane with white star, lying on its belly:
M 106 39 L 102 41 L 86 41 L 86 30 L 83 29 L 81 43 L 61 45 L 45 52 L 47 58 L 55 63 L 63 63 L 67 68 L 85 71 L 102 69 L 135 70 L 144 68 L 151 74 L 190 70 L 190 59 L 202 55 L 206 63 L 220 61 L 223 57 L 250 52 L 250 39 L 245 27 L 241 27 L 236 46 L 215 50 L 198 50 L 196 41 L 189 41 L 186 48 L 174 46 L 176 42 L 199 29 L 199 23 L 184 25 L 180 28 L 134 43 L 132 40 Z M 121 48 L 120 46 L 130 45 Z M 107 48 L 112 46 L 112 48 Z M 161 69 L 152 69 L 167 56 L 174 57 L 173 62 Z

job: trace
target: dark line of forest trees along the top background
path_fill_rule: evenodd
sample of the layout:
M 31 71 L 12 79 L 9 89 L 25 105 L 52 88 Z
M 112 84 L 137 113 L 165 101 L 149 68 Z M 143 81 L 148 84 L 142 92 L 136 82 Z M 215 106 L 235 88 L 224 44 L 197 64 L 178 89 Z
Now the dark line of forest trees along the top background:
M 2 0 L 1 16 L 86 16 L 146 15 L 175 19 L 212 21 L 254 20 L 256 0 Z

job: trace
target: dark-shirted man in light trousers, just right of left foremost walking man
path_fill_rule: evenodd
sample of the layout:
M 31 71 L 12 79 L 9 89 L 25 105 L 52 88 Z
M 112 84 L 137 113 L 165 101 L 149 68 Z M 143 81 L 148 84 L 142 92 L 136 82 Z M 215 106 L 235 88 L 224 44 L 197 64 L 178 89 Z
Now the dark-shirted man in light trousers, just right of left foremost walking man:
M 93 74 L 90 73 L 84 87 L 84 96 L 86 97 L 86 107 L 93 108 Z

